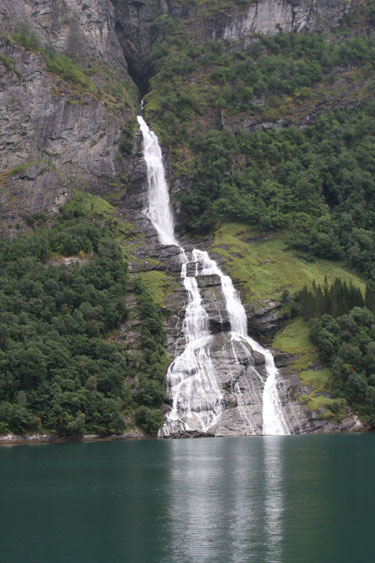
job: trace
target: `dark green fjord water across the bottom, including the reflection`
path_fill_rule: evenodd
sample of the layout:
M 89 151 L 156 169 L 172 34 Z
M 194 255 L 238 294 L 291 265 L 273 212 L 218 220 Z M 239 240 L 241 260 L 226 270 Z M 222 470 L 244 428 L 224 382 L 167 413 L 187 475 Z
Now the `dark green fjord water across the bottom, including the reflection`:
M 375 435 L 0 448 L 1 563 L 375 559 Z

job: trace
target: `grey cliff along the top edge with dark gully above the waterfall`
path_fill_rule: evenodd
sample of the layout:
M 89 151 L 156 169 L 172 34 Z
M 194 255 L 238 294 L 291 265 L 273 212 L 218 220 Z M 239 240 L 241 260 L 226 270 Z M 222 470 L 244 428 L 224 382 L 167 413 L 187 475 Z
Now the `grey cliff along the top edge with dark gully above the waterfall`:
M 148 55 L 159 38 L 157 20 L 169 16 L 195 40 L 221 38 L 240 48 L 255 34 L 329 31 L 361 0 L 261 0 L 258 2 L 176 2 L 173 0 L 111 0 L 116 32 L 124 48 L 129 70 L 142 93 L 152 74 Z M 156 24 L 156 25 L 155 25 Z

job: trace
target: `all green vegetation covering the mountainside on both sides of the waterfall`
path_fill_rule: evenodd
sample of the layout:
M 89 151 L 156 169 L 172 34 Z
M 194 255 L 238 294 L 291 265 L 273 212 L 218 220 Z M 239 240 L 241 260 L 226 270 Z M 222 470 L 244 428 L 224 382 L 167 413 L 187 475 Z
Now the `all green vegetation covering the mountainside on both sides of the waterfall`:
M 336 30 L 254 35 L 246 44 L 202 27 L 243 14 L 251 1 L 185 2 L 200 10 L 199 22 L 173 17 L 182 4 L 173 0 L 170 14 L 155 18 L 145 77 L 147 120 L 170 147 L 171 175 L 184 187 L 179 227 L 216 232 L 213 248 L 248 304 L 282 301 L 291 321 L 275 347 L 295 350 L 293 367 L 313 382 L 309 406 L 320 408 L 318 394 L 333 390 L 334 402 L 324 403 L 331 414 L 345 399 L 374 424 L 374 1 Z M 57 77 L 55 94 L 74 94 L 70 104 L 89 97 L 116 112 L 135 108 L 134 85 L 117 82 L 105 65 L 78 64 L 27 24 L 8 40 L 36 53 Z M 0 62 L 19 72 L 11 58 Z M 134 116 L 121 125 L 119 158 L 130 161 L 135 126 Z M 51 228 L 37 230 L 45 217 L 29 217 L 32 235 L 0 244 L 0 432 L 110 434 L 124 429 L 125 417 L 155 433 L 161 423 L 164 280 L 158 272 L 129 281 L 110 206 L 99 201 L 97 212 L 75 200 Z M 51 265 L 61 256 L 77 260 Z M 356 274 L 368 283 L 366 297 Z M 136 357 L 116 340 L 130 286 L 140 321 Z M 316 371 L 318 353 L 330 370 Z

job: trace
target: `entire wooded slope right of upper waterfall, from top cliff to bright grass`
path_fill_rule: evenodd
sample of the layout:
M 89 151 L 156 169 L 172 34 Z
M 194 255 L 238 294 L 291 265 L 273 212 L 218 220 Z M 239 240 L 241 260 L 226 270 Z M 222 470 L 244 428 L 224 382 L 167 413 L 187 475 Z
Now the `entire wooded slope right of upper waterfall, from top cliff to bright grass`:
M 340 98 L 342 80 L 351 84 L 351 103 L 370 91 L 364 81 L 375 76 L 375 41 L 372 8 L 363 9 L 361 36 L 352 33 L 354 22 L 329 36 L 257 37 L 242 50 L 221 39 L 199 42 L 169 16 L 156 21 L 146 112 L 190 186 L 179 196 L 187 230 L 203 233 L 228 221 L 288 228 L 290 248 L 311 259 L 345 258 L 375 279 L 375 106 L 324 111 L 330 93 Z M 289 100 L 286 115 L 281 99 Z M 305 100 L 302 115 L 319 108 L 314 124 L 290 125 L 296 100 Z M 275 127 L 249 130 L 264 120 Z

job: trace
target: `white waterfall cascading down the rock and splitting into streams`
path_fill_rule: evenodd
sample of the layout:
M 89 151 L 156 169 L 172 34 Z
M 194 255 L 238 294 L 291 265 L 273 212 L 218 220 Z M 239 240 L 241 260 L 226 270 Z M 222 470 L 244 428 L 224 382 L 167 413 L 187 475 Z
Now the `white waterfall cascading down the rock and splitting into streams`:
M 225 426 L 228 401 L 232 401 L 240 419 L 242 433 L 289 434 L 288 425 L 277 390 L 278 371 L 272 354 L 247 334 L 247 318 L 232 280 L 205 251 L 193 249 L 190 258 L 174 233 L 162 153 L 158 138 L 141 116 L 137 117 L 143 135 L 144 159 L 147 167 L 148 206 L 150 219 L 163 245 L 180 249 L 181 278 L 187 293 L 183 322 L 185 347 L 169 366 L 166 385 L 172 408 L 166 415 L 160 436 L 184 432 L 217 433 Z M 218 345 L 209 331 L 209 316 L 202 302 L 198 279 L 217 276 L 225 302 L 231 331 L 219 350 L 225 366 L 215 366 L 212 351 Z M 254 365 L 253 352 L 264 358 L 265 375 Z M 220 366 L 219 366 L 220 368 Z M 247 378 L 251 370 L 254 381 Z M 230 391 L 220 385 L 221 372 L 228 372 Z M 249 406 L 249 396 L 254 404 Z M 254 414 L 255 413 L 255 414 Z M 257 414 L 258 413 L 258 414 Z M 256 418 L 261 417 L 261 428 Z

